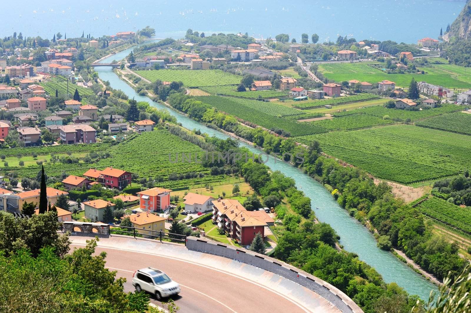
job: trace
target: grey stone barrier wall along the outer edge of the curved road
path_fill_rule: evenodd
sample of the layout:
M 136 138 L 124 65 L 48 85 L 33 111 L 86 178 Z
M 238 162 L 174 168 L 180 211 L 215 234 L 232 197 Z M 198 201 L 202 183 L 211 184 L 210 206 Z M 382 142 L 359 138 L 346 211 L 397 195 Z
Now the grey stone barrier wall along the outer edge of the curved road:
M 187 237 L 187 249 L 230 258 L 252 266 L 260 267 L 268 272 L 278 274 L 296 282 L 319 296 L 324 297 L 343 313 L 363 313 L 363 310 L 341 290 L 299 268 L 291 266 L 275 258 L 270 258 L 244 248 L 227 246 L 222 243 Z

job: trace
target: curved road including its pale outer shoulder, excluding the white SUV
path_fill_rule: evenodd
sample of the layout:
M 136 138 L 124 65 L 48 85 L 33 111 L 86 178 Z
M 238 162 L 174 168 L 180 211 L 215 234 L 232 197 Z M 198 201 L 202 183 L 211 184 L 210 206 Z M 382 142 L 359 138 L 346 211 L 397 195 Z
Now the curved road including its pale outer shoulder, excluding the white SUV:
M 90 237 L 71 239 L 72 247 L 80 248 Z M 114 236 L 100 239 L 96 252 L 101 251 L 107 253 L 106 266 L 127 279 L 126 291 L 134 290 L 132 275 L 139 268 L 152 266 L 168 274 L 181 286 L 180 295 L 173 297 L 181 313 L 340 312 L 316 293 L 276 274 L 181 245 Z M 151 302 L 162 306 L 153 297 Z

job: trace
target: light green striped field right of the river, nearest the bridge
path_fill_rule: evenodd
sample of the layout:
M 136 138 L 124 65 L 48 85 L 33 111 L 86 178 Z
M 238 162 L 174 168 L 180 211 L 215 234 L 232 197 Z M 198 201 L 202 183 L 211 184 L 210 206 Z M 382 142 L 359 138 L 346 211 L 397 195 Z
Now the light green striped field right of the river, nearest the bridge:
M 187 87 L 238 85 L 242 78 L 222 70 L 135 70 L 134 72 L 152 82 L 181 81 Z

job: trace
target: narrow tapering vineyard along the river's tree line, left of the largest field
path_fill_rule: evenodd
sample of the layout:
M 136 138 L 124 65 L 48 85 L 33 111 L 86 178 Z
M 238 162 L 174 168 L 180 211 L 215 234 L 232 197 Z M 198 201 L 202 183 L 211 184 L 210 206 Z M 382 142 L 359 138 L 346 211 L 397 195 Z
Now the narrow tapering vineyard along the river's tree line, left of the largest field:
M 315 133 L 325 133 L 325 129 L 317 125 L 298 123 L 282 116 L 302 118 L 303 112 L 283 105 L 261 102 L 256 100 L 238 99 L 219 96 L 196 97 L 211 107 L 234 115 L 245 121 L 260 125 L 267 129 L 281 128 L 292 136 L 302 136 Z

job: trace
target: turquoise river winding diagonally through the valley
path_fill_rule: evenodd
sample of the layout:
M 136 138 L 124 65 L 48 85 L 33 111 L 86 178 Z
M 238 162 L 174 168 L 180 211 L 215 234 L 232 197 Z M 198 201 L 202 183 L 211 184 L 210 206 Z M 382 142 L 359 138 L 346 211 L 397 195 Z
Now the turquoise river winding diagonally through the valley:
M 133 48 L 126 49 L 100 62 L 110 63 L 112 60 L 122 60 L 129 55 L 132 49 Z M 168 108 L 162 104 L 155 103 L 148 97 L 138 95 L 134 89 L 122 81 L 112 71 L 111 67 L 97 67 L 96 70 L 102 80 L 109 81 L 113 88 L 121 89 L 130 98 L 134 97 L 138 102 L 146 101 L 158 109 L 168 110 Z M 187 129 L 199 129 L 202 133 L 208 133 L 210 136 L 216 136 L 222 139 L 229 138 L 227 134 L 208 128 L 179 112 L 174 110 L 169 111 L 170 114 L 176 117 L 177 121 Z M 263 152 L 244 142 L 240 142 L 239 145 L 257 154 Z M 348 212 L 334 200 L 333 196 L 322 184 L 313 180 L 298 168 L 276 160 L 273 157 L 270 157 L 266 164 L 271 170 L 280 171 L 283 172 L 284 175 L 292 177 L 296 181 L 297 188 L 304 191 L 306 196 L 311 199 L 312 207 L 319 208 L 315 210 L 317 218 L 322 222 L 330 224 L 337 234 L 340 235 L 340 243 L 344 246 L 344 249 L 356 253 L 362 261 L 373 266 L 386 282 L 396 282 L 410 294 L 419 295 L 425 301 L 428 300 L 431 289 L 438 290 L 437 286 L 415 273 L 392 253 L 379 249 L 376 246 L 376 240 L 373 234 L 356 219 L 350 217 Z

